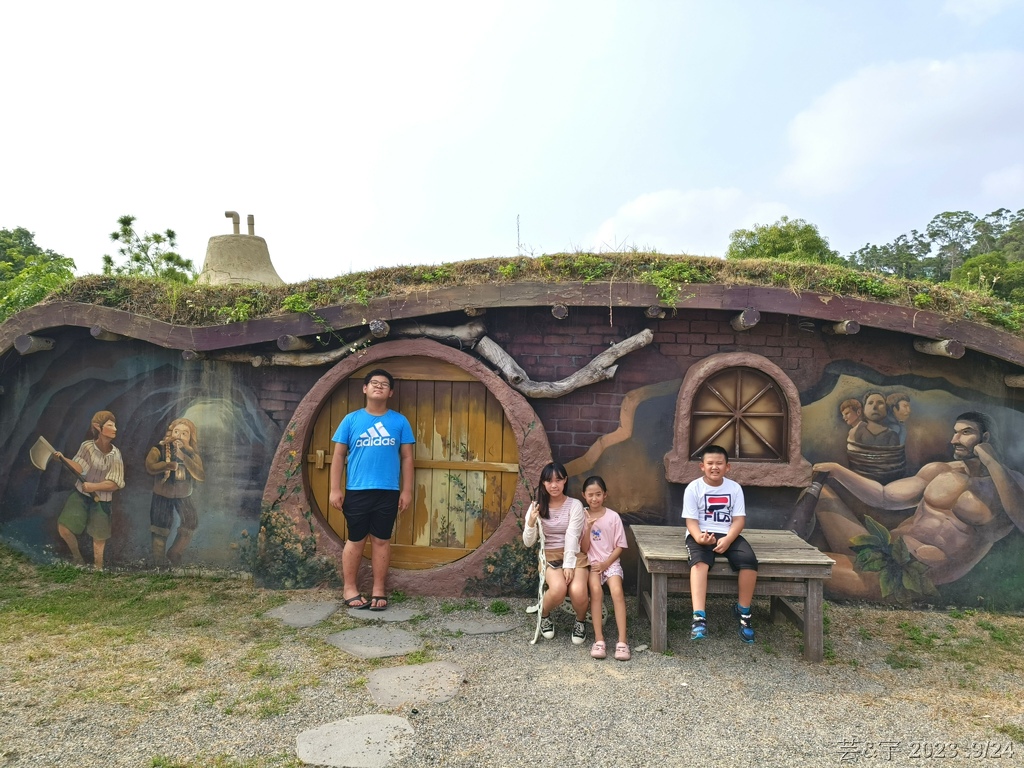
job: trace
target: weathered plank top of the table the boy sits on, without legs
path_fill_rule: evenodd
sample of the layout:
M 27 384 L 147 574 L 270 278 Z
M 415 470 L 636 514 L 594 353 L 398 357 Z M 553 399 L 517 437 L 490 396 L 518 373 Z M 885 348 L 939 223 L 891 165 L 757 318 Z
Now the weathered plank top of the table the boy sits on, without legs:
M 644 560 L 688 561 L 683 525 L 632 525 L 637 550 Z M 812 547 L 792 530 L 746 528 L 742 534 L 754 549 L 758 562 L 763 564 L 823 565 L 831 566 L 834 560 L 816 547 Z

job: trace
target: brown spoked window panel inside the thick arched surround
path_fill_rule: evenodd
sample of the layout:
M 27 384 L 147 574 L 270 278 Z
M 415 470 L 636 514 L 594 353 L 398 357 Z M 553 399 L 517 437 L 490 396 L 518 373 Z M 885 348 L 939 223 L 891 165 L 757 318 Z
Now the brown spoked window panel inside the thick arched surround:
M 707 378 L 693 397 L 690 459 L 718 444 L 733 462 L 784 462 L 787 415 L 774 379 L 754 368 L 727 368 Z

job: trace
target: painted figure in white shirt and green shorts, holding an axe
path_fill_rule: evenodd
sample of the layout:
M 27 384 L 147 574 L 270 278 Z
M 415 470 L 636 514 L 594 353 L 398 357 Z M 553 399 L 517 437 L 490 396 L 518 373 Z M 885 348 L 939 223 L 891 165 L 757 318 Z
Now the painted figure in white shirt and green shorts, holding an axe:
M 110 411 L 99 411 L 92 417 L 86 440 L 68 462 L 82 479 L 76 480 L 75 490 L 57 518 L 57 532 L 77 564 L 85 562 L 78 537 L 88 534 L 92 538 L 92 562 L 97 570 L 103 569 L 103 550 L 111 538 L 111 500 L 115 490 L 125 486 L 124 461 L 114 444 L 118 435 L 115 422 Z M 61 458 L 59 453 L 55 456 Z

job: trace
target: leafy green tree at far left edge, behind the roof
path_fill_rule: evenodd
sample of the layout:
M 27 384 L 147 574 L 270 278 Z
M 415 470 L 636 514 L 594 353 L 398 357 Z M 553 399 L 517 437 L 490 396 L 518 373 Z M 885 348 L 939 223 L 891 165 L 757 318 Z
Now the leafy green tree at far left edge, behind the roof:
M 25 227 L 0 229 L 0 322 L 75 279 L 75 262 L 36 245 Z

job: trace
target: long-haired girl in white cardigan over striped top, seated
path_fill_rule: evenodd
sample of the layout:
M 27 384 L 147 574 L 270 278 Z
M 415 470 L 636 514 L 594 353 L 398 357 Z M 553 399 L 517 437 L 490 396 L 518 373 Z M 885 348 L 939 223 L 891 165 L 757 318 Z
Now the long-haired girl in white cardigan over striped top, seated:
M 522 541 L 527 547 L 537 542 L 538 524 L 544 527 L 545 558 L 548 568 L 545 579 L 548 591 L 544 594 L 541 613 L 541 634 L 546 640 L 555 636 L 551 621 L 552 608 L 561 605 L 568 594 L 575 612 L 572 625 L 572 643 L 583 645 L 587 640 L 588 565 L 587 555 L 580 552 L 583 534 L 583 504 L 565 496 L 568 475 L 558 462 L 552 462 L 541 471 L 537 501 L 526 511 L 526 524 Z

